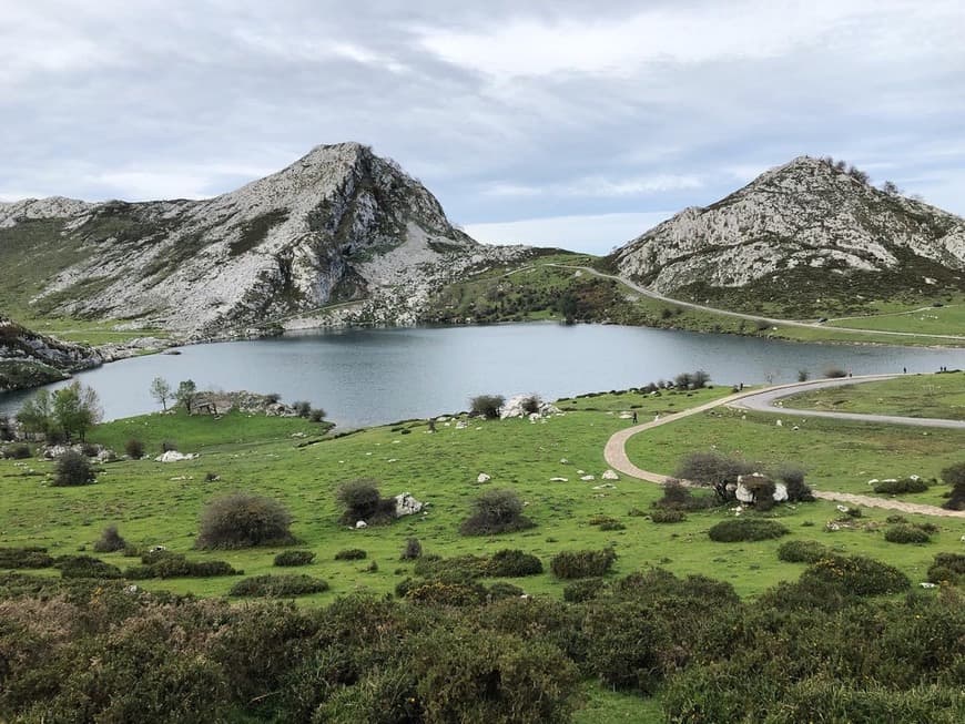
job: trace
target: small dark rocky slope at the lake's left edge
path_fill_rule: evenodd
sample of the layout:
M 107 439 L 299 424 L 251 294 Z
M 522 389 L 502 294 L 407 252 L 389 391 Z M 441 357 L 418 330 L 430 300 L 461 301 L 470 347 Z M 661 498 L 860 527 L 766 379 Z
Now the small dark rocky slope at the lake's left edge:
M 103 361 L 90 347 L 31 332 L 0 315 L 0 392 L 64 379 Z

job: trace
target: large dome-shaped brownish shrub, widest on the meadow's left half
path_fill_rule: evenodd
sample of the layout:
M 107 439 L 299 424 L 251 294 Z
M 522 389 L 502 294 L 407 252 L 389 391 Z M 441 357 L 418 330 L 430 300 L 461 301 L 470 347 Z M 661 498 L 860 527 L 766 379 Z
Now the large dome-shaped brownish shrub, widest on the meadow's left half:
M 197 548 L 250 548 L 291 543 L 292 516 L 271 498 L 235 492 L 207 503 Z

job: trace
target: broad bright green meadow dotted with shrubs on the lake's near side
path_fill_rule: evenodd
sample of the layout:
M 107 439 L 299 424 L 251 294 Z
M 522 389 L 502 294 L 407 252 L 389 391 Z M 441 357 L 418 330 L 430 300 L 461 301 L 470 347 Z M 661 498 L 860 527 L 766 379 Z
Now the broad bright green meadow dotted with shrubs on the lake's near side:
M 684 522 L 656 524 L 640 513 L 660 496 L 658 486 L 627 478 L 612 483 L 600 479 L 606 470 L 603 445 L 612 432 L 629 425 L 621 414 L 636 410 L 647 419 L 729 392 L 718 387 L 653 397 L 589 395 L 560 400 L 565 414 L 540 422 L 468 420 L 468 426 L 457 427 L 457 420 L 449 419 L 429 432 L 425 420 L 413 420 L 319 442 L 314 440 L 324 431 L 321 426 L 293 418 L 230 414 L 215 419 L 177 412 L 118 420 L 99 426 L 90 439 L 122 450 L 126 440 L 138 437 L 154 453 L 163 441 L 173 441 L 180 450 L 200 457 L 175 463 L 150 459 L 108 463 L 95 485 L 81 488 L 51 487 L 47 478 L 50 462 L 0 460 L 0 545 L 44 545 L 54 554 L 90 551 L 101 530 L 114 523 L 138 547 L 163 544 L 192 560 L 226 560 L 246 575 L 280 572 L 272 560 L 283 548 L 193 549 L 205 503 L 244 490 L 283 502 L 294 516 L 297 548 L 316 553 L 312 564 L 296 571 L 324 578 L 332 589 L 299 599 L 306 605 L 327 604 L 355 591 L 393 591 L 413 574 L 413 564 L 399 560 L 410 537 L 421 541 L 426 553 L 451 557 L 518 548 L 537 554 L 545 564 L 559 551 L 613 545 L 619 557 L 613 575 L 662 567 L 678 574 L 724 580 L 741 595 L 754 596 L 779 581 L 796 579 L 804 564 L 779 561 L 779 541 L 711 542 L 708 529 L 733 514 L 728 510 L 689 513 Z M 956 461 L 961 435 L 910 435 L 825 421 L 792 430 L 790 425 L 776 428 L 773 416 L 744 418 L 718 409 L 639 435 L 629 451 L 639 465 L 671 472 L 681 455 L 710 446 L 768 461 L 799 460 L 817 487 L 867 492 L 867 478 L 886 472 L 931 476 Z M 491 481 L 478 483 L 480 472 L 491 476 Z M 209 473 L 219 479 L 205 481 Z M 582 481 L 582 475 L 595 479 Z M 567 480 L 551 481 L 560 477 Z M 335 492 L 341 482 L 355 478 L 378 480 L 385 496 L 412 492 L 429 503 L 428 512 L 364 530 L 339 524 Z M 526 501 L 526 514 L 537 527 L 496 537 L 460 536 L 458 526 L 470 500 L 492 488 L 518 491 Z M 908 499 L 939 500 L 937 491 Z M 913 582 L 924 580 L 936 552 L 959 550 L 959 538 L 965 534 L 965 521 L 933 519 L 939 528 L 933 542 L 897 545 L 883 539 L 885 511 L 866 510 L 854 528 L 834 533 L 824 530 L 829 520 L 840 517 L 830 503 L 780 507 L 773 514 L 791 529 L 789 538 L 819 540 L 842 552 L 886 560 Z M 590 523 L 595 516 L 617 519 L 624 529 L 602 531 Z M 367 558 L 335 560 L 337 551 L 349 548 L 364 549 Z M 138 562 L 121 553 L 101 558 L 122 569 Z M 139 581 L 139 585 L 205 596 L 225 594 L 236 580 L 170 579 Z M 511 582 L 530 594 L 556 599 L 563 589 L 549 572 Z M 659 696 L 640 698 L 587 683 L 583 698 L 586 707 L 575 720 L 580 723 L 661 721 Z

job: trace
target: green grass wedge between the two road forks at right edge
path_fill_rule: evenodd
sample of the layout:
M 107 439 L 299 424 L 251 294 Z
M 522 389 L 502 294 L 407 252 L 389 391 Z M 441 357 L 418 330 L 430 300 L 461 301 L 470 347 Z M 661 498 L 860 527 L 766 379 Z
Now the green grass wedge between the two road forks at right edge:
M 784 398 L 785 407 L 965 420 L 965 374 L 914 375 Z

